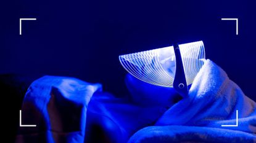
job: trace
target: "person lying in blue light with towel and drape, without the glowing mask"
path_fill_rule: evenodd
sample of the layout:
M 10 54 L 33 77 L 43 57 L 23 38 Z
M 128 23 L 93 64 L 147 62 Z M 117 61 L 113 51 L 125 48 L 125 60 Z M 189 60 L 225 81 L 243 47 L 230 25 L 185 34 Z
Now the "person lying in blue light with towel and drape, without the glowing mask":
M 126 75 L 130 96 L 44 76 L 27 90 L 16 142 L 256 142 L 255 102 L 206 60 L 186 98 Z M 118 87 L 117 87 L 118 88 Z

